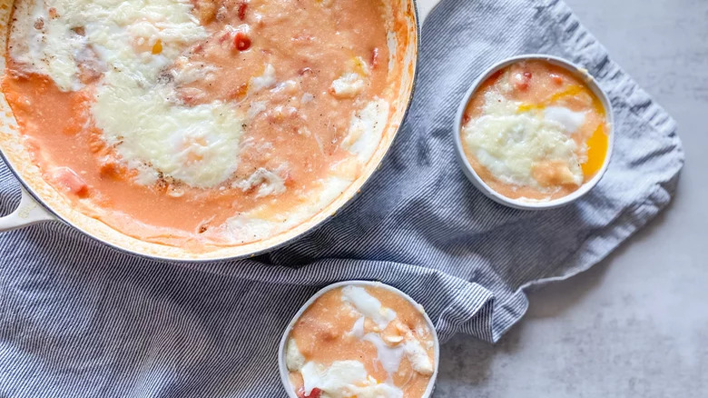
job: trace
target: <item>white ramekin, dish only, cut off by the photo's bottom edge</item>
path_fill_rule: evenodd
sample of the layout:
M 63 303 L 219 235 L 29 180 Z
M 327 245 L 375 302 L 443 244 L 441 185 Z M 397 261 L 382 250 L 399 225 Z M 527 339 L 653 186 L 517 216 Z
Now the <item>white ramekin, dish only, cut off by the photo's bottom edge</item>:
M 415 300 L 413 300 L 408 294 L 405 294 L 398 289 L 396 289 L 393 286 L 389 286 L 388 284 L 381 284 L 380 282 L 371 282 L 371 281 L 345 281 L 345 282 L 338 282 L 337 284 L 330 284 L 327 287 L 324 287 L 321 289 L 318 293 L 314 294 L 312 297 L 310 297 L 310 300 L 307 301 L 302 307 L 300 308 L 300 311 L 295 314 L 295 316 L 292 317 L 292 320 L 290 320 L 290 323 L 288 323 L 288 327 L 285 328 L 285 332 L 282 334 L 282 338 L 280 339 L 280 346 L 278 347 L 278 368 L 280 370 L 280 382 L 282 382 L 282 386 L 285 388 L 285 391 L 288 393 L 288 396 L 290 398 L 298 398 L 298 395 L 295 393 L 294 388 L 290 384 L 290 371 L 288 371 L 288 366 L 285 363 L 285 344 L 288 343 L 288 337 L 290 336 L 290 331 L 292 330 L 292 327 L 295 326 L 295 323 L 298 322 L 300 319 L 300 316 L 302 313 L 307 311 L 308 308 L 310 308 L 310 305 L 315 302 L 322 294 L 326 294 L 332 289 L 337 289 L 338 287 L 344 287 L 344 286 L 373 286 L 373 287 L 379 287 L 381 289 L 386 289 L 389 292 L 393 292 L 395 294 L 398 294 L 399 296 L 405 298 L 408 300 L 408 303 L 413 304 L 420 313 L 423 314 L 423 317 L 426 319 L 426 323 L 428 323 L 428 328 L 430 329 L 430 333 L 433 334 L 433 343 L 434 343 L 434 348 L 435 348 L 435 360 L 434 360 L 434 371 L 433 375 L 430 376 L 430 382 L 428 383 L 428 388 L 426 389 L 425 393 L 423 393 L 423 396 L 421 398 L 429 398 L 433 394 L 433 390 L 435 389 L 435 383 L 436 380 L 438 379 L 438 365 L 440 362 L 440 343 L 438 341 L 438 333 L 435 330 L 435 325 L 433 324 L 432 321 L 430 321 L 430 318 L 428 317 L 428 313 L 425 312 L 423 309 L 423 306 L 416 303 Z M 395 310 L 395 309 L 394 309 Z

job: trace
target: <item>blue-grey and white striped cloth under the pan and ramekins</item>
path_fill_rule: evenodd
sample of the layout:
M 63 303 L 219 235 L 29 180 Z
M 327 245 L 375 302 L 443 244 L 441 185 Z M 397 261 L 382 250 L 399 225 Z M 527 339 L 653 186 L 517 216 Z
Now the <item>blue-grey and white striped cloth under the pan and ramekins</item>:
M 564 3 L 444 0 L 422 37 L 415 101 L 381 170 L 296 244 L 180 265 L 116 253 L 63 224 L 0 235 L 0 396 L 284 396 L 280 333 L 310 294 L 349 279 L 407 292 L 442 341 L 496 342 L 525 313 L 526 286 L 597 263 L 671 200 L 683 165 L 674 121 Z M 581 202 L 543 213 L 487 200 L 453 152 L 467 86 L 523 53 L 585 65 L 616 113 L 605 178 Z M 0 211 L 18 192 L 0 166 Z

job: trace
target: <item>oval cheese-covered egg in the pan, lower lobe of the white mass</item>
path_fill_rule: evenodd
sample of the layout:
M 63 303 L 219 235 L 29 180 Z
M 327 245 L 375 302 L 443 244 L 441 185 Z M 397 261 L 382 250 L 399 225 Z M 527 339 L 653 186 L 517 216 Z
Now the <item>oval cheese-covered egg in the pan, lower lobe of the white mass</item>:
M 106 81 L 93 118 L 132 168 L 150 164 L 155 172 L 203 188 L 221 184 L 236 171 L 241 122 L 229 105 L 169 104 L 165 87 L 146 92 L 124 75 L 106 76 Z

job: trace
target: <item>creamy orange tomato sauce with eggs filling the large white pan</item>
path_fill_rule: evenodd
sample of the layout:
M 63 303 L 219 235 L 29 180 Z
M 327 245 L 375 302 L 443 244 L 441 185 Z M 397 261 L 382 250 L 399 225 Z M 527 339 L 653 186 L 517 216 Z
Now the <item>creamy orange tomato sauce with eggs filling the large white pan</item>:
M 279 234 L 357 180 L 399 94 L 382 0 L 17 0 L 3 92 L 82 214 L 194 252 Z

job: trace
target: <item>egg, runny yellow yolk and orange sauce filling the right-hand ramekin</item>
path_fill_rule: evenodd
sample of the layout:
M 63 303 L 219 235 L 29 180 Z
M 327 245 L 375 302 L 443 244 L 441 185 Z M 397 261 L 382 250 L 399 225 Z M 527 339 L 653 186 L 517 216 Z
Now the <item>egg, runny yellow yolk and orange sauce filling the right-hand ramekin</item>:
M 565 196 L 605 160 L 604 107 L 581 79 L 545 61 L 519 62 L 487 79 L 465 118 L 467 160 L 509 198 Z

